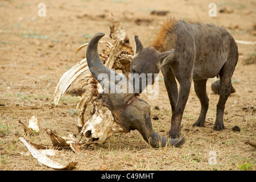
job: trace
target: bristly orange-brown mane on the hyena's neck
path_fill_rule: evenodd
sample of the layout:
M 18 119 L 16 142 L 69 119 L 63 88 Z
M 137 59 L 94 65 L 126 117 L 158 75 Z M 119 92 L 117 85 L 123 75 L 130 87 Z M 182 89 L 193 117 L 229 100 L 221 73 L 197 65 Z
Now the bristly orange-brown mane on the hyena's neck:
M 177 35 L 175 31 L 176 23 L 179 22 L 176 18 L 167 19 L 151 39 L 149 47 L 154 47 L 159 52 L 170 51 L 176 46 Z

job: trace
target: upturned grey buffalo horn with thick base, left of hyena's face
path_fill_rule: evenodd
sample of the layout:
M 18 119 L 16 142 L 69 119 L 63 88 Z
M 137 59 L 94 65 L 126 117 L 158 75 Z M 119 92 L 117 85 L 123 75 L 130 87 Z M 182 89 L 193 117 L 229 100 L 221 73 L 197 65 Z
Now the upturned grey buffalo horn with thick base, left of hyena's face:
M 105 34 L 100 32 L 93 35 L 88 43 L 86 59 L 90 72 L 92 72 L 94 78 L 96 78 L 104 88 L 105 96 L 108 97 L 108 100 L 105 100 L 105 105 L 109 107 L 111 105 L 113 109 L 120 107 L 120 105 L 125 105 L 134 95 L 134 90 L 133 85 L 129 86 L 131 82 L 128 81 L 125 76 L 118 75 L 111 69 L 106 68 L 102 63 L 98 55 L 98 42 L 104 35 Z M 116 86 L 117 84 L 121 86 L 118 87 Z

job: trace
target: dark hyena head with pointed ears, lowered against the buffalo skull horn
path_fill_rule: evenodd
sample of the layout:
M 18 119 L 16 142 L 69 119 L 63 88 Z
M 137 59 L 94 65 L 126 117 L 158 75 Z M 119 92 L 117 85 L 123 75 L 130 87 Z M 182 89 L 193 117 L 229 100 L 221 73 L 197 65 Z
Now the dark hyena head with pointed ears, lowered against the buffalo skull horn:
M 160 53 L 154 47 L 144 48 L 137 35 L 135 35 L 135 43 L 135 55 L 130 64 L 131 79 L 133 79 L 135 93 L 142 93 L 148 83 L 154 84 L 154 76 L 159 73 L 164 59 L 174 50 Z M 143 79 L 145 76 L 146 80 Z M 137 77 L 140 77 L 140 79 L 136 80 Z

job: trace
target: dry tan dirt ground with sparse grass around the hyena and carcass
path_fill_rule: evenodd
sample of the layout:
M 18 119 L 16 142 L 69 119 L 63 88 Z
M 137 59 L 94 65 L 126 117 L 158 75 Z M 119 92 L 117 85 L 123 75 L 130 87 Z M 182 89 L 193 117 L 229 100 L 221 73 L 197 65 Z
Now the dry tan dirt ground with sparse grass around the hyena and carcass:
M 110 41 L 110 13 L 125 25 L 133 47 L 134 35 L 147 45 L 170 16 L 213 23 L 225 27 L 234 39 L 256 42 L 254 0 L 216 0 L 216 17 L 208 15 L 212 1 L 204 0 L 48 0 L 44 1 L 46 16 L 42 17 L 38 16 L 40 2 L 0 2 L 0 170 L 53 170 L 28 155 L 19 140 L 24 131 L 18 121 L 27 122 L 36 115 L 42 131 L 25 138 L 49 148 L 52 143 L 45 129 L 60 135 L 77 134 L 75 109 L 80 97 L 65 94 L 59 107 L 54 107 L 53 93 L 63 73 L 85 57 L 84 50 L 75 54 L 76 48 L 96 32 L 105 32 L 102 40 Z M 168 13 L 151 14 L 154 10 Z M 226 103 L 225 130 L 213 130 L 218 95 L 210 89 L 217 80 L 212 78 L 207 84 L 210 104 L 205 127 L 192 127 L 200 113 L 200 102 L 191 88 L 181 125 L 181 135 L 187 141 L 181 148 L 152 148 L 138 131 L 131 131 L 110 137 L 100 146 L 82 148 L 80 153 L 61 150 L 61 155 L 53 159 L 61 164 L 77 161 L 73 170 L 255 170 L 255 148 L 245 142 L 256 142 L 256 48 L 238 44 L 238 49 L 240 58 L 232 80 L 236 92 Z M 151 105 L 151 117 L 159 118 L 152 119 L 154 129 L 167 135 L 171 107 L 161 74 L 158 99 L 148 100 L 147 94 L 141 98 Z M 233 131 L 234 126 L 241 131 Z

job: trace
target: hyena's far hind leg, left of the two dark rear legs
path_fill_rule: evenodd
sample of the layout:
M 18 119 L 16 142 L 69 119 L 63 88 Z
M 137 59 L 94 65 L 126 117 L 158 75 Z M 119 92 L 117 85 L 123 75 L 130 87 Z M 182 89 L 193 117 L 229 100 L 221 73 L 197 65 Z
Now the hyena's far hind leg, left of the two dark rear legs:
M 193 80 L 193 81 L 194 81 L 196 95 L 201 102 L 200 115 L 197 121 L 193 124 L 193 126 L 203 127 L 205 123 L 206 114 L 208 111 L 208 106 L 209 106 L 209 98 L 207 96 L 207 89 L 206 89 L 207 79 Z

